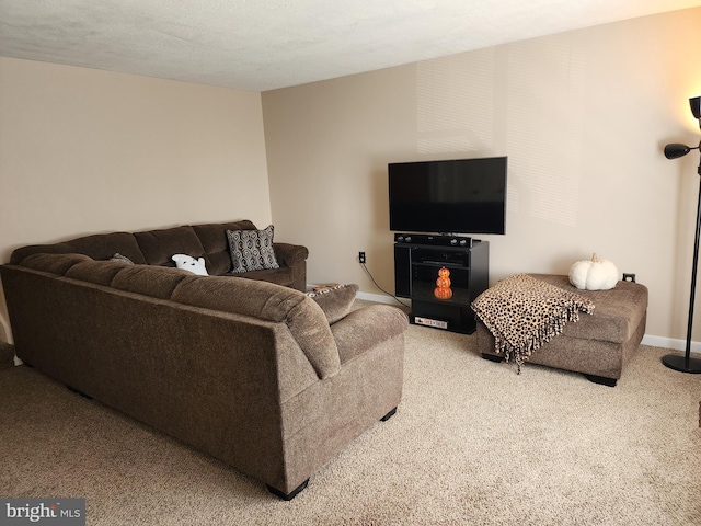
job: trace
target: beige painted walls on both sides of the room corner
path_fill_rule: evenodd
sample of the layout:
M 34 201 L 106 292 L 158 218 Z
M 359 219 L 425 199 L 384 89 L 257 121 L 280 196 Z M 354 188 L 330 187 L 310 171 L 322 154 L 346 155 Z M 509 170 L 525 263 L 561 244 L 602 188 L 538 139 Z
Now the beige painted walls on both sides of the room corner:
M 565 273 L 596 251 L 650 287 L 647 334 L 683 339 L 698 155 L 668 161 L 662 147 L 699 139 L 687 101 L 701 93 L 700 23 L 700 9 L 667 13 L 262 101 L 0 57 L 0 258 L 89 232 L 249 217 L 310 248 L 310 283 L 379 294 L 356 256 L 366 251 L 393 290 L 387 163 L 507 155 L 507 235 L 484 237 L 491 281 Z

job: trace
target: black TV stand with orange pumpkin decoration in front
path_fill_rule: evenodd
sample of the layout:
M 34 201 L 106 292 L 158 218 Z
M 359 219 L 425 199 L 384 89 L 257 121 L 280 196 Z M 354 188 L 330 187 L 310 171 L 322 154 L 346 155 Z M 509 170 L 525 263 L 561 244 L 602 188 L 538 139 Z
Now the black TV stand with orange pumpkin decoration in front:
M 412 323 L 471 334 L 470 304 L 489 287 L 490 243 L 460 236 L 397 233 L 394 289 L 412 300 Z M 434 295 L 438 270 L 450 271 L 450 299 Z

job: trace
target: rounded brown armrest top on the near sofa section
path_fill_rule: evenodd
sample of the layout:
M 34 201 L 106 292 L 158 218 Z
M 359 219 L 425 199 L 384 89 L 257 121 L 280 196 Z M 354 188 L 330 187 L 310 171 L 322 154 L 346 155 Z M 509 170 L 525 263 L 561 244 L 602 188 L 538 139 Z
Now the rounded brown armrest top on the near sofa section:
M 371 305 L 352 311 L 331 325 L 331 332 L 343 365 L 387 340 L 403 335 L 407 327 L 409 318 L 399 308 Z

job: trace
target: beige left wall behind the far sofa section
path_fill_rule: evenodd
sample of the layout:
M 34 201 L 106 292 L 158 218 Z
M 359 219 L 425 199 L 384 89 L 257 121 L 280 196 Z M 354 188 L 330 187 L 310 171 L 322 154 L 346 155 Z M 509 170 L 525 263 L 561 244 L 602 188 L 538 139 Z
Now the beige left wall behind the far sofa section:
M 0 58 L 2 262 L 28 243 L 239 218 L 271 221 L 260 93 Z

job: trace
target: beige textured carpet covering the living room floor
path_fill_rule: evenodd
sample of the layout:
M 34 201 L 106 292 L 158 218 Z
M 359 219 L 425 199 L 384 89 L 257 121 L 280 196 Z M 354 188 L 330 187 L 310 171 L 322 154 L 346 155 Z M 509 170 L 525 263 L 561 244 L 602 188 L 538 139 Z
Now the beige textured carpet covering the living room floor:
M 0 370 L 0 496 L 91 525 L 701 524 L 701 375 L 641 346 L 616 388 L 410 327 L 404 399 L 291 502 L 27 367 Z

